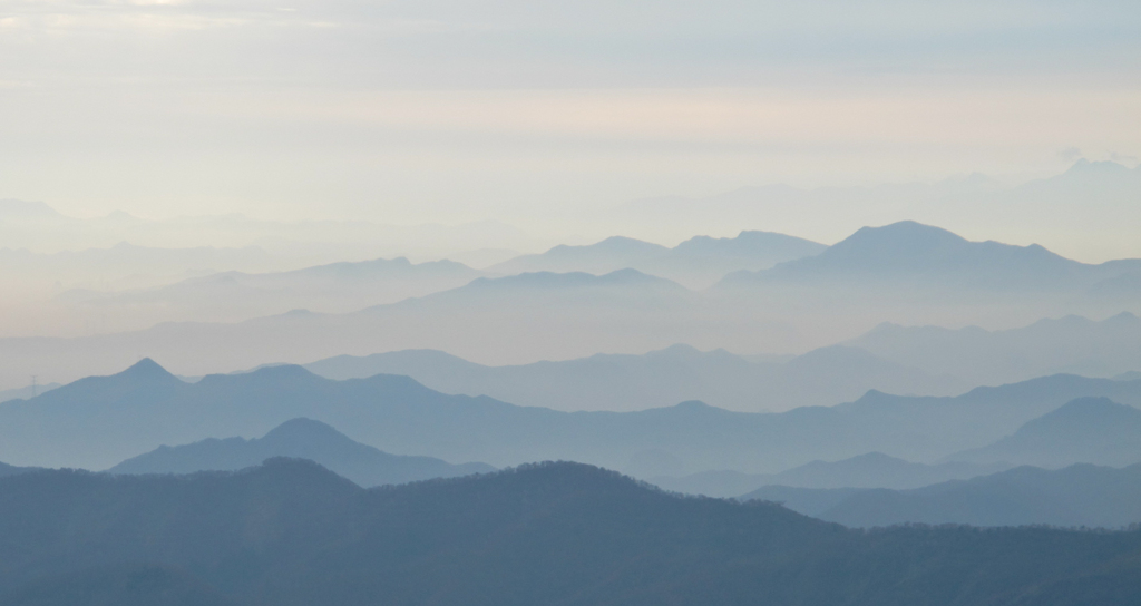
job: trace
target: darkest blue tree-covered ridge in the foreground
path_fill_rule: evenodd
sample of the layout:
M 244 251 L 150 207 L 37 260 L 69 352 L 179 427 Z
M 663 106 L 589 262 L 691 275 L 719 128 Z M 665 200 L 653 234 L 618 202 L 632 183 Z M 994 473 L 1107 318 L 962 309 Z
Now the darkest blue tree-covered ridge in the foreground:
M 373 490 L 308 461 L 0 478 L 0 604 L 1068 605 L 1141 600 L 1141 533 L 860 532 L 577 463 Z

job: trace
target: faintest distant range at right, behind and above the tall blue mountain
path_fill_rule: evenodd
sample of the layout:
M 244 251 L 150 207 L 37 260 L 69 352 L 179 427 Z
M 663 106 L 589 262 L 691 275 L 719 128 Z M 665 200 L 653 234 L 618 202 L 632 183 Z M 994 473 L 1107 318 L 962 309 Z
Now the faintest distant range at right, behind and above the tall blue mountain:
M 1008 237 L 1022 242 L 1049 234 L 1070 256 L 1112 258 L 1130 247 L 1133 226 L 1141 224 L 1133 203 L 1139 196 L 1141 168 L 1083 159 L 1060 175 L 1020 185 L 979 173 L 811 189 L 772 184 L 703 197 L 637 200 L 615 209 L 613 220 L 628 225 L 626 233 L 728 233 L 758 225 L 833 241 L 855 226 L 913 219 L 961 233 L 1002 226 Z M 1141 257 L 1141 248 L 1132 247 L 1130 254 Z

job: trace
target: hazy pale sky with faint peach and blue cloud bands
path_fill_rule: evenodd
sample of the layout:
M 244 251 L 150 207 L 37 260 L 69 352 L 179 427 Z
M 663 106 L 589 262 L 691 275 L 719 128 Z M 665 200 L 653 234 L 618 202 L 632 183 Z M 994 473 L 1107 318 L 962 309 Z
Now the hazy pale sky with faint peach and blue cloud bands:
M 0 197 L 76 216 L 1030 178 L 1132 167 L 1139 110 L 1135 0 L 0 0 Z

